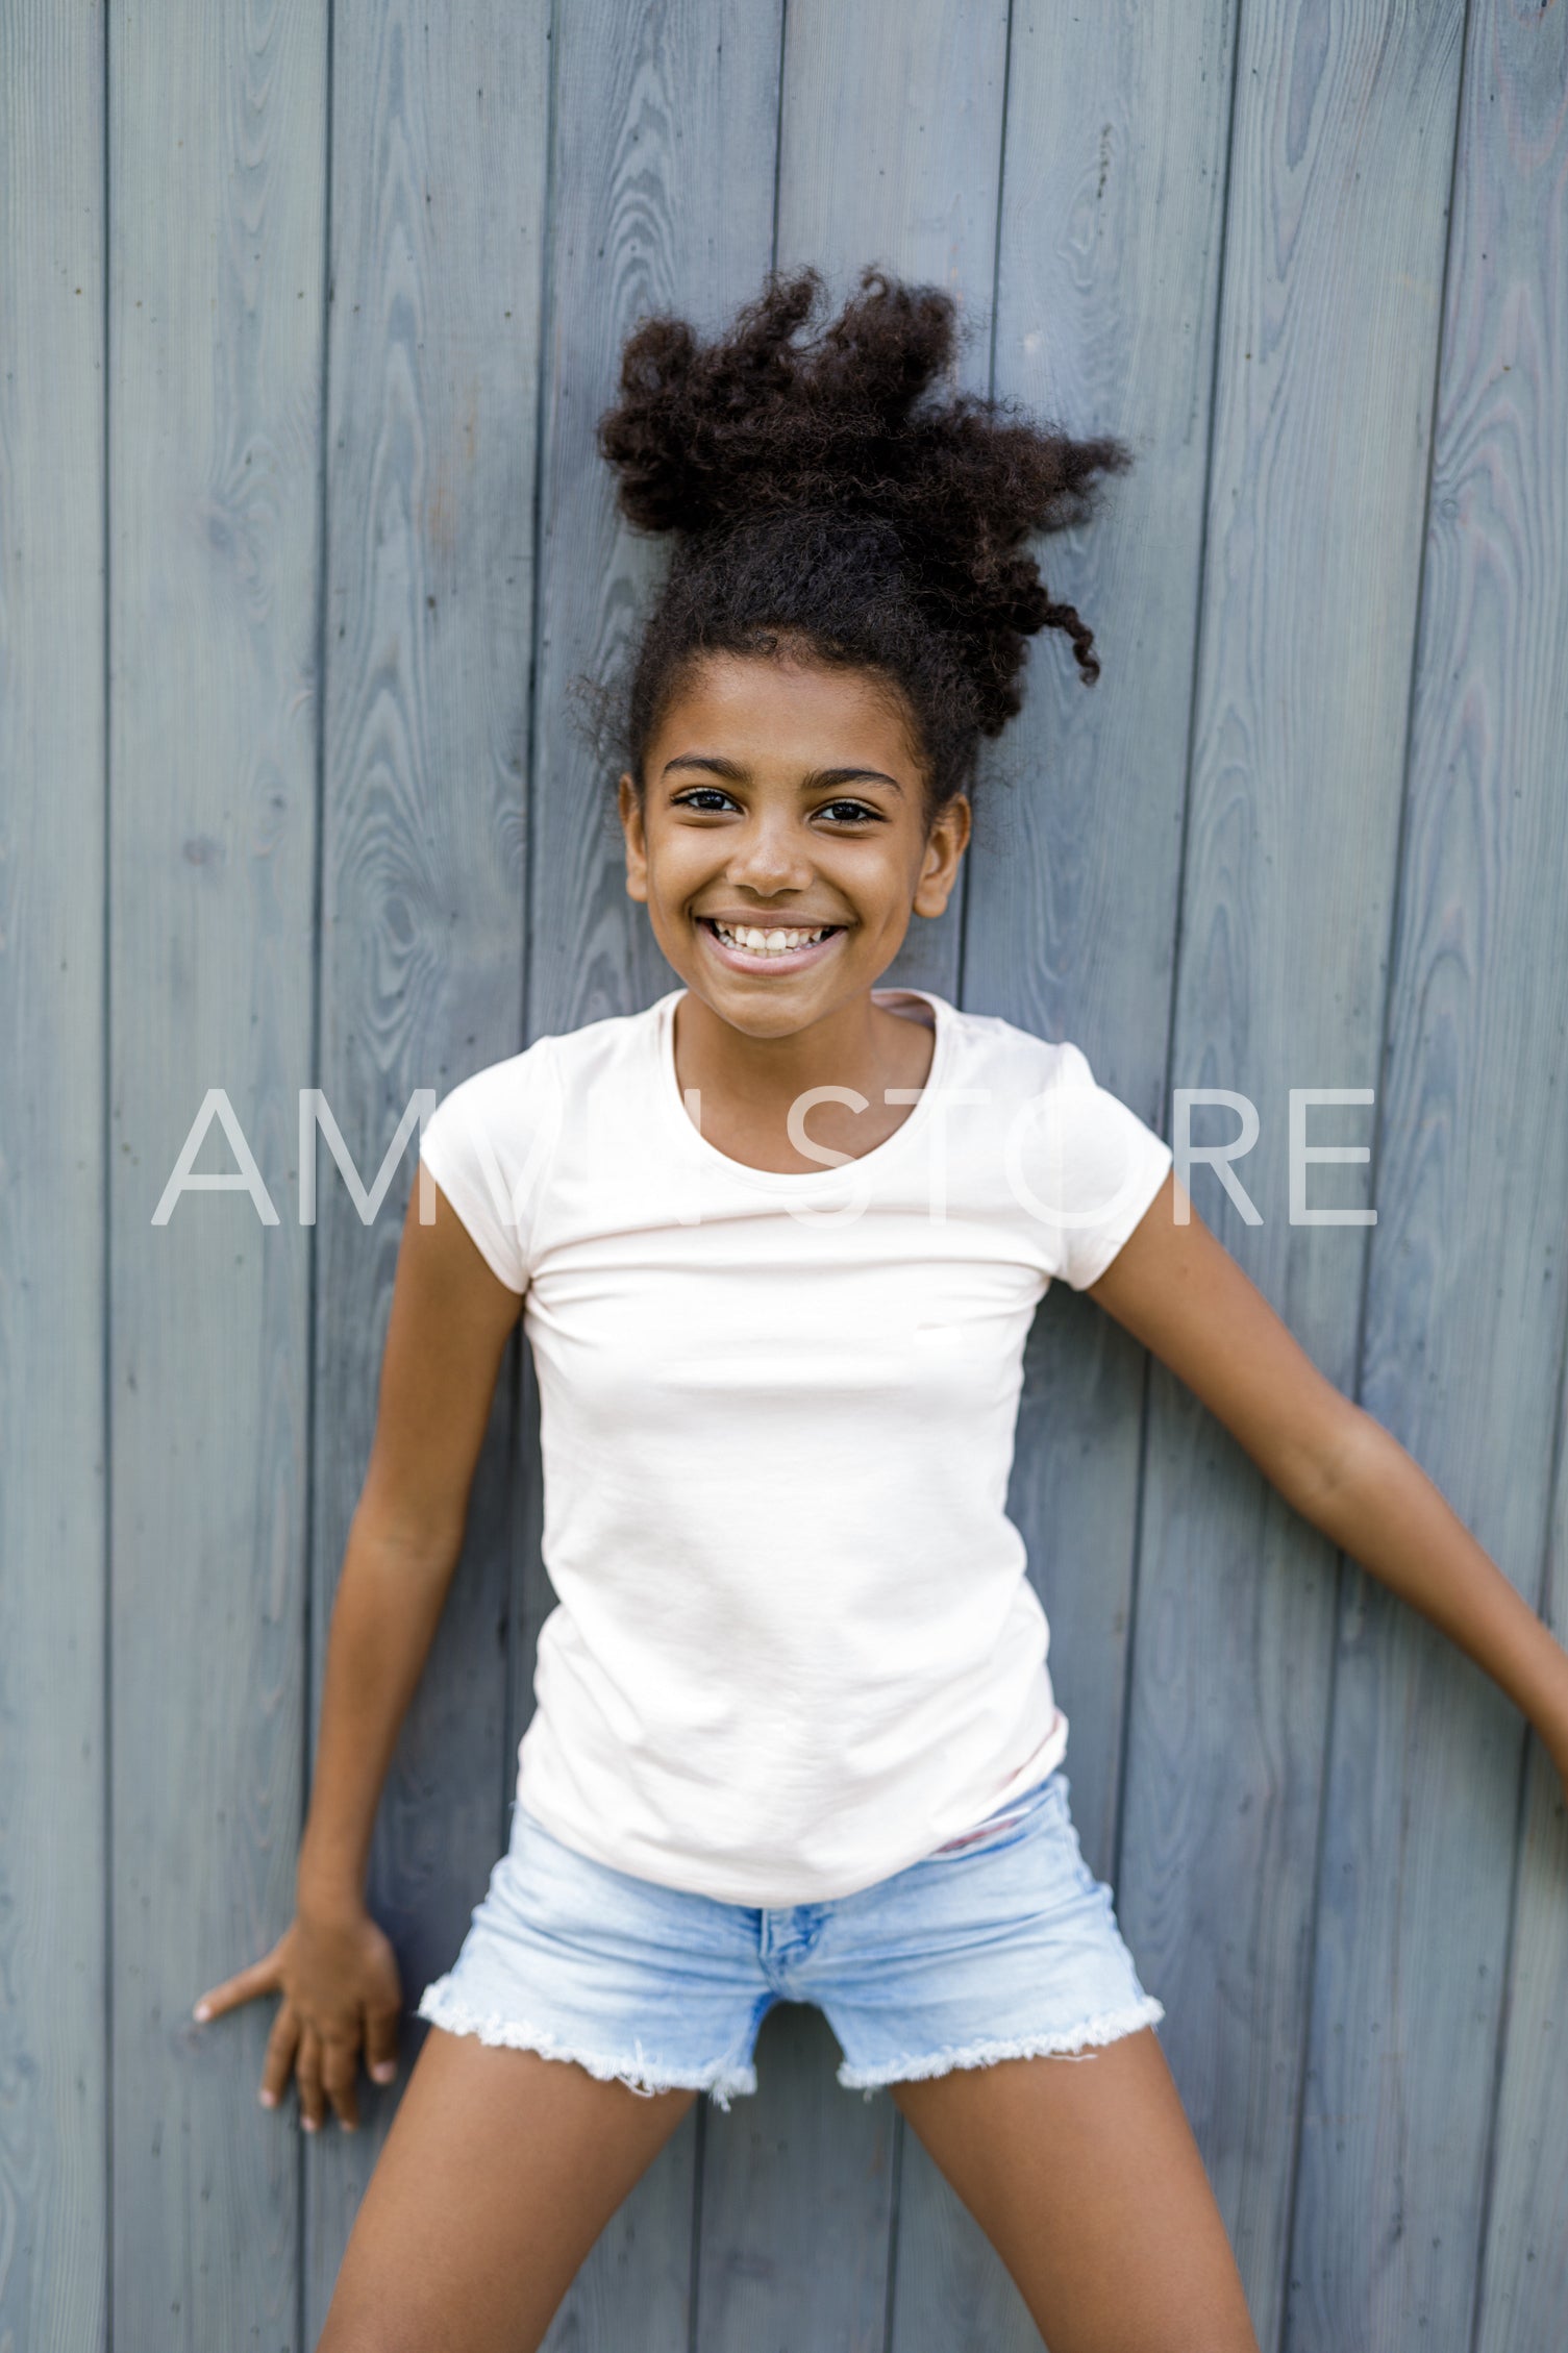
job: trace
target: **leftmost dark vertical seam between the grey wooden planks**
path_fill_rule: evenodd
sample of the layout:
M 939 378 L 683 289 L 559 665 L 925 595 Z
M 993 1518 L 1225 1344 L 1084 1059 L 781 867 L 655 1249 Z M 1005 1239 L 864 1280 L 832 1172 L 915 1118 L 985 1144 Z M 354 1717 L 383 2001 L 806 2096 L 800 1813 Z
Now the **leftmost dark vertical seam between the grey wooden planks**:
M 103 1351 L 101 1351 L 101 1393 L 99 1393 L 99 1417 L 101 1417 L 101 1445 L 103 1445 L 103 2353 L 115 2353 L 115 1379 L 113 1379 L 113 1193 L 115 1193 L 115 1151 L 113 1151 L 113 1118 L 115 1118 L 115 1059 L 110 1049 L 113 1040 L 113 967 L 110 967 L 110 944 L 113 944 L 113 727 L 110 727 L 110 694 L 113 694 L 113 664 L 110 664 L 110 567 L 113 567 L 113 536 L 110 536 L 110 496 L 108 496 L 108 456 L 110 456 L 110 419 L 108 419 L 108 381 L 110 381 L 110 141 L 108 141 L 108 92 L 110 92 L 110 33 L 108 33 L 108 0 L 103 0 L 103 49 L 101 49 L 101 106 L 103 106 L 103 146 L 101 146 L 101 240 L 99 240 L 99 266 L 103 271 L 101 287 L 101 320 L 99 336 L 103 344 L 103 419 L 101 419 L 101 449 L 99 464 L 103 473 L 101 485 L 101 515 L 99 529 L 103 534 L 103 678 L 99 692 L 103 696 L 103 965 L 99 972 L 99 1054 L 101 1054 L 101 1099 L 99 1099 L 99 1129 L 103 1139 L 103 1193 L 99 1202 L 99 1268 L 103 1282 Z

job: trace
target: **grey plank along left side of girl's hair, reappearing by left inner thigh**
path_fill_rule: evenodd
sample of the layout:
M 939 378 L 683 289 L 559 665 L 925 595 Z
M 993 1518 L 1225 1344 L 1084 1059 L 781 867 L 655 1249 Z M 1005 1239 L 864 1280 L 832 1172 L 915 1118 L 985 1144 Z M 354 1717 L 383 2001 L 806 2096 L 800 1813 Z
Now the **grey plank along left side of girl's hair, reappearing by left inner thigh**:
M 630 1012 L 675 986 L 646 915 L 625 896 L 614 765 L 595 755 L 574 704 L 574 680 L 618 675 L 661 560 L 618 525 L 592 435 L 637 318 L 675 308 L 717 327 L 762 285 L 773 240 L 778 21 L 780 0 L 592 0 L 557 14 L 529 1038 Z M 531 1393 L 524 1402 L 531 1433 Z M 529 1435 L 529 1459 L 531 1447 Z M 512 1654 L 517 1732 L 531 1713 L 534 1638 L 550 1600 L 534 1553 L 524 1640 Z M 686 2353 L 696 2151 L 693 2113 L 583 2266 L 550 2332 L 552 2353 L 618 2341 Z

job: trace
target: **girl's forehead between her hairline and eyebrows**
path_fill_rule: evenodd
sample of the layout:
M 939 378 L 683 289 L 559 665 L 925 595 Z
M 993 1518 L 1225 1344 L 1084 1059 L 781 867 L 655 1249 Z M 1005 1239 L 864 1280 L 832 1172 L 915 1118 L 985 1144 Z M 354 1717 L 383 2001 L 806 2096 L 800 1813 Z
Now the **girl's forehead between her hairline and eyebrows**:
M 703 654 L 670 696 L 649 769 L 682 751 L 762 769 L 879 767 L 914 776 L 898 692 L 872 671 L 757 654 Z

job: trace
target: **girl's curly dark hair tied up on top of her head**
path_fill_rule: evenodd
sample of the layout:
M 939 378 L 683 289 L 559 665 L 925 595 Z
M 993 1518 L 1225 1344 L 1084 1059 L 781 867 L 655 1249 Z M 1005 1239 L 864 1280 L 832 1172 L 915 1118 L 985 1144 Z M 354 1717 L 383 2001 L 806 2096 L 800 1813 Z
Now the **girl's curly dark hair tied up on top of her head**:
M 1025 638 L 1060 628 L 1084 682 L 1100 675 L 1093 633 L 1053 602 L 1025 539 L 1084 522 L 1128 452 L 936 393 L 957 346 L 940 287 L 870 268 L 837 318 L 818 325 L 820 311 L 823 280 L 799 271 L 712 344 L 679 318 L 625 344 L 599 449 L 628 520 L 675 534 L 675 551 L 623 739 L 642 791 L 661 713 L 703 654 L 867 668 L 914 722 L 931 816 L 1018 711 Z

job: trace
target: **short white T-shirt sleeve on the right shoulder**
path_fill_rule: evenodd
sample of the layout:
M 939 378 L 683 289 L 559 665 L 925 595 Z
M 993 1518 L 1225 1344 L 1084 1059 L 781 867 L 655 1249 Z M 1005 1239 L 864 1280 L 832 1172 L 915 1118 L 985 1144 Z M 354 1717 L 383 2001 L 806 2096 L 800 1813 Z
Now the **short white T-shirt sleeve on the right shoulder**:
M 1095 1082 L 1077 1045 L 1051 1047 L 1046 1085 L 1009 1141 L 1013 1198 L 1039 1224 L 1046 1271 L 1088 1289 L 1166 1181 L 1171 1146 Z

